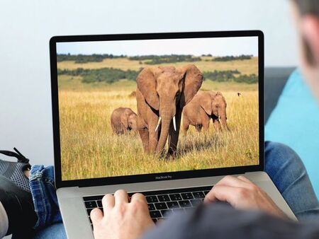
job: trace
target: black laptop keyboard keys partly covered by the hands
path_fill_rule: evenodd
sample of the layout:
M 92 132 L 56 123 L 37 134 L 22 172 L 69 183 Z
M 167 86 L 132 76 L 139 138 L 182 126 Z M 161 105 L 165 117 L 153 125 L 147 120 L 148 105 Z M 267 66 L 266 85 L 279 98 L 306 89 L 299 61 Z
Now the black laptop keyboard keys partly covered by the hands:
M 157 221 L 167 218 L 169 214 L 193 210 L 203 202 L 204 197 L 211 190 L 207 187 L 187 187 L 174 190 L 157 190 L 140 192 L 145 195 L 148 210 L 152 220 Z M 134 192 L 128 193 L 131 197 Z M 92 209 L 99 208 L 103 211 L 102 198 L 104 195 L 83 197 L 86 213 L 92 226 L 90 213 Z M 93 226 L 92 226 L 93 228 Z

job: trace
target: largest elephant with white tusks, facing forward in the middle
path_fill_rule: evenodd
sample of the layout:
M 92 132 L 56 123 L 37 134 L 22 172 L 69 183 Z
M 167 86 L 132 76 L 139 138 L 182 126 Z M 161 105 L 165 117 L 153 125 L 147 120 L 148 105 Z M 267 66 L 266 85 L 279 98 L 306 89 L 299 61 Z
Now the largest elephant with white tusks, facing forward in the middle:
M 146 152 L 163 153 L 169 136 L 167 155 L 177 151 L 181 112 L 196 95 L 203 75 L 194 66 L 150 66 L 137 79 L 138 132 Z

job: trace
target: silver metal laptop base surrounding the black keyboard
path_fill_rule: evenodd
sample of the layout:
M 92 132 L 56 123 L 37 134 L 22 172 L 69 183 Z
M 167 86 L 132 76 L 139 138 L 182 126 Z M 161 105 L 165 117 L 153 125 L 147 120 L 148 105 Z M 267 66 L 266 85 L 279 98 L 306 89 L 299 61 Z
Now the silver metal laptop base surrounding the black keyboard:
M 238 175 L 235 175 L 238 176 Z M 188 187 L 215 185 L 224 176 L 198 177 L 183 180 L 165 180 L 157 182 L 140 182 L 132 184 L 108 185 L 99 187 L 64 187 L 57 190 L 63 222 L 68 238 L 94 238 L 83 197 L 101 194 L 113 194 L 123 189 L 127 192 L 147 192 L 155 190 L 176 190 Z M 281 196 L 276 186 L 264 172 L 245 173 L 245 177 L 262 188 L 284 213 L 297 220 Z M 77 218 L 77 220 L 74 220 Z

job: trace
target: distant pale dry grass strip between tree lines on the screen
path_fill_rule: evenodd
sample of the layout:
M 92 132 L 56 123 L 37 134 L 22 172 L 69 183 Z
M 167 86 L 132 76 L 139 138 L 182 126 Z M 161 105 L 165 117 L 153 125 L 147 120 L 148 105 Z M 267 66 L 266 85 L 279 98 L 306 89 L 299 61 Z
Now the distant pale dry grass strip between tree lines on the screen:
M 258 57 L 252 57 L 252 59 L 244 61 L 232 61 L 232 62 L 211 62 L 212 57 L 202 57 L 201 62 L 191 62 L 195 64 L 201 71 L 228 71 L 237 69 L 240 74 L 258 74 Z M 206 62 L 207 59 L 209 62 Z M 71 61 L 57 62 L 57 68 L 59 69 L 101 69 L 104 67 L 113 67 L 123 70 L 136 70 L 138 71 L 141 67 L 150 66 L 144 63 L 139 64 L 139 61 L 130 61 L 128 58 L 116 58 L 116 59 L 104 59 L 103 62 L 88 62 L 83 64 L 76 64 Z M 174 66 L 184 66 L 190 64 L 189 62 L 177 62 Z M 172 63 L 160 64 L 161 66 L 172 66 Z

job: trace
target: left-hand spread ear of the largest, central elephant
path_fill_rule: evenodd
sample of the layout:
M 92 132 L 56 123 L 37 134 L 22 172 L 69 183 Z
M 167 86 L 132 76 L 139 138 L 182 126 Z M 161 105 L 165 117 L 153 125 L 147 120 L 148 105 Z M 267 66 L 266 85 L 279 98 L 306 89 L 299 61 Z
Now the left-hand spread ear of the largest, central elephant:
M 158 67 L 145 67 L 138 74 L 136 83 L 147 103 L 155 110 L 159 110 L 159 96 L 156 91 L 157 74 L 161 71 Z

